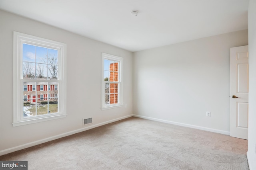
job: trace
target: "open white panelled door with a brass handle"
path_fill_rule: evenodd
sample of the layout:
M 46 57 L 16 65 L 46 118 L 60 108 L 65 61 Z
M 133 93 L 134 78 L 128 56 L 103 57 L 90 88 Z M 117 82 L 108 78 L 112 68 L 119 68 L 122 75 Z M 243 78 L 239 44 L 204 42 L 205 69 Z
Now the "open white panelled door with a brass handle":
M 230 48 L 230 136 L 248 139 L 248 45 Z

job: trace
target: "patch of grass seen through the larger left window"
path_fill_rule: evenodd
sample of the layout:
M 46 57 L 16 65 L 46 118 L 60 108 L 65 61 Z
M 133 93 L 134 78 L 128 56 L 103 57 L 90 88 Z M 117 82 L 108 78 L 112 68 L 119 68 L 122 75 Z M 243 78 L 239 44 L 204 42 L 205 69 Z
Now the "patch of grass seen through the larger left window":
M 36 106 L 31 106 L 28 109 L 31 115 L 36 115 Z M 57 113 L 58 112 L 58 104 L 49 104 L 49 111 L 50 113 Z M 47 104 L 37 106 L 37 115 L 44 115 L 47 114 Z

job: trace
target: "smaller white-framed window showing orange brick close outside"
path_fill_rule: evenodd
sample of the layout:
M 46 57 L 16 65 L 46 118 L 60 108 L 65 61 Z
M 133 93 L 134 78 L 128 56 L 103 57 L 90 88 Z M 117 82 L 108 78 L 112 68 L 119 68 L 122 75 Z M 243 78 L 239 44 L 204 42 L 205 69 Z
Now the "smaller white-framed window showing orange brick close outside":
M 122 57 L 102 53 L 102 109 L 122 106 Z

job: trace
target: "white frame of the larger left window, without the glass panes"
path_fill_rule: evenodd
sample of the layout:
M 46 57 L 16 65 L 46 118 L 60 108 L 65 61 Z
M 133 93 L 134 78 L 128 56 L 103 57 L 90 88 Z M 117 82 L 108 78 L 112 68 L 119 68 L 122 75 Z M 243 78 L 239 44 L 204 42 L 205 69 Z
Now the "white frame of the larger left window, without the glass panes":
M 66 44 L 14 31 L 13 123 L 14 127 L 66 117 Z M 58 50 L 58 80 L 23 79 L 23 43 Z M 58 112 L 23 117 L 24 82 L 58 82 Z M 37 92 L 37 89 L 36 89 Z M 37 94 L 38 95 L 38 94 Z M 31 99 L 33 100 L 33 99 Z M 35 99 L 37 100 L 37 99 Z

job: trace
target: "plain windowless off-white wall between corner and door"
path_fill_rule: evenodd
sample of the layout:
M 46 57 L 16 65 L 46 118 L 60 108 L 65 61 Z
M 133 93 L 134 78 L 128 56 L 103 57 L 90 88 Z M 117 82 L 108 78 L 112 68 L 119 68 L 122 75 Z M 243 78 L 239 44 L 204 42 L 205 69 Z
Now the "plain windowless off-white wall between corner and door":
M 242 45 L 247 30 L 135 52 L 134 114 L 229 134 L 230 47 Z

